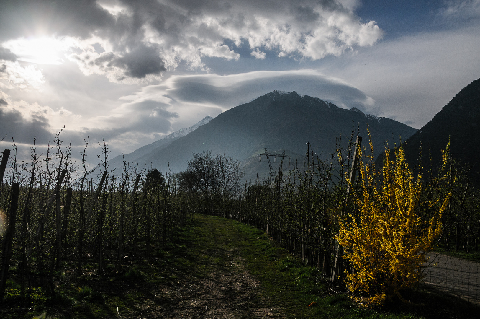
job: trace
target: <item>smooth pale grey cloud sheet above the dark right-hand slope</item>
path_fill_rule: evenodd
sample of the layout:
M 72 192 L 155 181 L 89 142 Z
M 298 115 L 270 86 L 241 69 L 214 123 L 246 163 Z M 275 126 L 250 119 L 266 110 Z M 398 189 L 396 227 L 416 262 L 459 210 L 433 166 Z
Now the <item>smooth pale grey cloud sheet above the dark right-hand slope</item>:
M 378 107 L 369 112 L 420 128 L 480 77 L 479 61 L 480 33 L 468 26 L 383 41 L 319 70 L 367 92 Z

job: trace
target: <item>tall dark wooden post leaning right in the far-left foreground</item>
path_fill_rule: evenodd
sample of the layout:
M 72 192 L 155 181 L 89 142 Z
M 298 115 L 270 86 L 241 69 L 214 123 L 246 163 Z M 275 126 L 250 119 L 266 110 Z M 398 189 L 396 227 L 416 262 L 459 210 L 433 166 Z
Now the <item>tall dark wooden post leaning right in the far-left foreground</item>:
M 2 270 L 0 274 L 0 300 L 5 295 L 5 286 L 8 277 L 8 268 L 10 267 L 10 258 L 12 257 L 13 235 L 15 233 L 15 221 L 17 219 L 18 194 L 20 184 L 12 184 L 12 202 L 8 214 L 7 228 L 3 240 Z

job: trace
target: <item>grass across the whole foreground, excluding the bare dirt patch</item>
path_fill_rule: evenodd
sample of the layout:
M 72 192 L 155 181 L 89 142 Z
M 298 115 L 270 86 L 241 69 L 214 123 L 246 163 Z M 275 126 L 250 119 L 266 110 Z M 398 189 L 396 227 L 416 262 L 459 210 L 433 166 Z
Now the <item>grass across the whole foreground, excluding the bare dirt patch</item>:
M 151 251 L 149 257 L 141 251 L 144 255 L 123 258 L 119 273 L 115 272 L 115 258 L 106 258 L 107 273 L 103 276 L 95 275 L 95 266 L 86 266 L 85 274 L 76 281 L 60 282 L 55 297 L 50 297 L 48 290 L 35 288 L 35 298 L 22 300 L 13 278 L 9 289 L 14 293 L 0 305 L 0 318 L 31 319 L 44 311 L 47 318 L 118 318 L 117 309 L 122 318 L 137 318 L 146 309 L 149 317 L 160 318 L 161 311 L 168 314 L 179 304 L 164 291 L 207 277 L 219 284 L 212 272 L 228 275 L 232 260 L 243 264 L 259 282 L 249 288 L 258 294 L 238 308 L 236 318 L 264 318 L 264 313 L 255 312 L 259 309 L 287 319 L 477 318 L 480 313 L 479 307 L 428 289 L 408 292 L 405 297 L 412 304 L 396 302 L 380 310 L 360 309 L 319 270 L 304 266 L 263 231 L 221 217 L 197 215 L 195 222 L 173 233 L 171 243 L 152 245 Z M 87 262 L 95 265 L 93 258 Z M 88 288 L 82 291 L 83 287 Z M 228 288 L 225 293 L 235 295 L 236 291 Z

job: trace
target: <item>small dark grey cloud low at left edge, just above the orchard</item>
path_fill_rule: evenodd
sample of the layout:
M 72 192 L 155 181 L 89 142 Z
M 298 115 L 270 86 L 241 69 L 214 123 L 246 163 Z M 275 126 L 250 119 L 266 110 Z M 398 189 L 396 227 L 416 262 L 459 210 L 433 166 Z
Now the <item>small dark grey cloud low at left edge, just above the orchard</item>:
M 6 105 L 6 103 L 0 104 Z M 8 134 L 8 137 L 13 137 L 17 143 L 32 143 L 34 136 L 37 141 L 53 140 L 45 117 L 37 115 L 28 121 L 19 111 L 8 110 L 5 107 L 0 107 L 0 128 L 0 135 Z

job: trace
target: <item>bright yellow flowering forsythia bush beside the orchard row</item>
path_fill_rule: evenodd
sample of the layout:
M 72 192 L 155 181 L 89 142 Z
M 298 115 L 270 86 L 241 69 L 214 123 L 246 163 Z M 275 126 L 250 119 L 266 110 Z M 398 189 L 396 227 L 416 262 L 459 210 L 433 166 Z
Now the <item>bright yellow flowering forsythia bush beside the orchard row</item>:
M 370 147 L 373 154 L 371 140 Z M 366 296 L 366 307 L 382 306 L 395 295 L 404 300 L 400 291 L 423 277 L 451 195 L 434 200 L 422 196 L 422 177 L 408 168 L 403 148 L 394 155 L 391 159 L 386 149 L 384 166 L 375 172 L 373 156 L 360 150 L 360 182 L 351 194 L 354 208 L 340 221 L 337 235 L 354 269 L 346 273 L 348 289 Z

